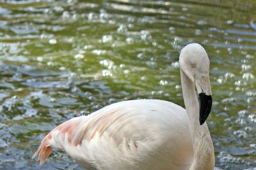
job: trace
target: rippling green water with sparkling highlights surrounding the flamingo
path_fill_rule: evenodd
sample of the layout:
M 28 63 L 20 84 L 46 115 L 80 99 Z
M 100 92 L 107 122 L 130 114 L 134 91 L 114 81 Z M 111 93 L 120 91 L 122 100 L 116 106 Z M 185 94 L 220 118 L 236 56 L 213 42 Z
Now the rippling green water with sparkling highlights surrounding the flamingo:
M 59 150 L 42 167 L 31 157 L 51 129 L 109 104 L 184 107 L 177 61 L 197 42 L 211 62 L 216 169 L 255 170 L 255 5 L 1 0 L 0 169 L 82 169 Z

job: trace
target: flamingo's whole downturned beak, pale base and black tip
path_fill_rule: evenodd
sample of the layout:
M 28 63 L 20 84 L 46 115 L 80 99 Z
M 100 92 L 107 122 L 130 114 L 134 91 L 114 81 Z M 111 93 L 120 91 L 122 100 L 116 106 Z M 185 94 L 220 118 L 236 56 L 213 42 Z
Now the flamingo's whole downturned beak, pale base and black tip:
M 199 98 L 199 122 L 203 125 L 212 109 L 212 93 L 209 77 L 202 76 L 196 79 L 196 88 Z

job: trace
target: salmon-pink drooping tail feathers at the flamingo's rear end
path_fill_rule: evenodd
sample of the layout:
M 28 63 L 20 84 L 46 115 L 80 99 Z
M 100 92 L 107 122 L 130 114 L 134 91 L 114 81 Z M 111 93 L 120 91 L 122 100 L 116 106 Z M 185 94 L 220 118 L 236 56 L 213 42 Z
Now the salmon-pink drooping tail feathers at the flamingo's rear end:
M 52 138 L 51 132 L 45 136 L 45 138 L 42 140 L 40 146 L 38 147 L 36 153 L 33 155 L 32 159 L 37 157 L 37 161 L 40 160 L 40 165 L 42 166 L 45 160 L 48 158 L 48 156 L 52 152 L 52 147 L 49 146 L 49 140 Z M 39 155 L 38 155 L 39 153 Z

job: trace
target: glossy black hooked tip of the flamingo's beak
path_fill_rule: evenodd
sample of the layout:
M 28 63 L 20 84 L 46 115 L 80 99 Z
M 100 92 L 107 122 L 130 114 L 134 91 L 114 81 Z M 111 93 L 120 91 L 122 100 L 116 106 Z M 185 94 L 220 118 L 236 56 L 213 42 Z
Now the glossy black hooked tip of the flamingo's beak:
M 205 93 L 198 94 L 199 98 L 199 122 L 203 125 L 212 109 L 212 96 Z

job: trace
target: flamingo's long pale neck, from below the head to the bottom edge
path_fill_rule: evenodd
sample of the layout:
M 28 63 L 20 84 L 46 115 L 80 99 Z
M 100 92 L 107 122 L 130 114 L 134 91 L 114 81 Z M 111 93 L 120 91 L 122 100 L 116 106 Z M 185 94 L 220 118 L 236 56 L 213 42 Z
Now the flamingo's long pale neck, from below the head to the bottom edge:
M 199 103 L 195 85 L 182 69 L 180 69 L 180 73 L 194 150 L 194 162 L 190 170 L 213 170 L 215 163 L 214 148 L 206 122 L 202 126 L 199 123 Z

